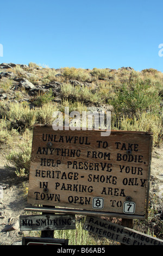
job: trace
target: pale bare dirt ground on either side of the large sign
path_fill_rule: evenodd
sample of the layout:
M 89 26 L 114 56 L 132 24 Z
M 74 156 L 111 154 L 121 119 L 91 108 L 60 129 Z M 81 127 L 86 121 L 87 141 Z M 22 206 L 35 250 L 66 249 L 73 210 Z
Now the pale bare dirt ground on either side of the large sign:
M 163 209 L 163 145 L 153 149 L 151 166 L 150 195 L 158 198 Z M 28 180 L 18 178 L 15 169 L 5 167 L 5 157 L 1 154 L 0 186 L 3 198 L 0 198 L 0 245 L 21 245 L 23 233 L 19 227 L 19 217 L 28 206 L 25 193 Z M 17 243 L 19 242 L 19 243 Z

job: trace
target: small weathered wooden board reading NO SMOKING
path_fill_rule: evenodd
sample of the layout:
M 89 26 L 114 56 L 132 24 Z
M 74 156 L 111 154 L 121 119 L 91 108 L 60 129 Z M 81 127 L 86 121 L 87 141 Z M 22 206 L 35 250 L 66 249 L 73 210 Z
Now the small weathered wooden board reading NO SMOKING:
M 21 215 L 20 230 L 76 229 L 74 215 Z

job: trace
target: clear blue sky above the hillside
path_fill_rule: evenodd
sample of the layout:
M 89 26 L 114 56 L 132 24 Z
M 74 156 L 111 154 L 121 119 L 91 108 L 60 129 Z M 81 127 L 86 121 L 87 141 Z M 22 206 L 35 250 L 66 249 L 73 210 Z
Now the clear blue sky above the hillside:
M 162 0 L 1 0 L 0 8 L 0 63 L 163 72 Z

